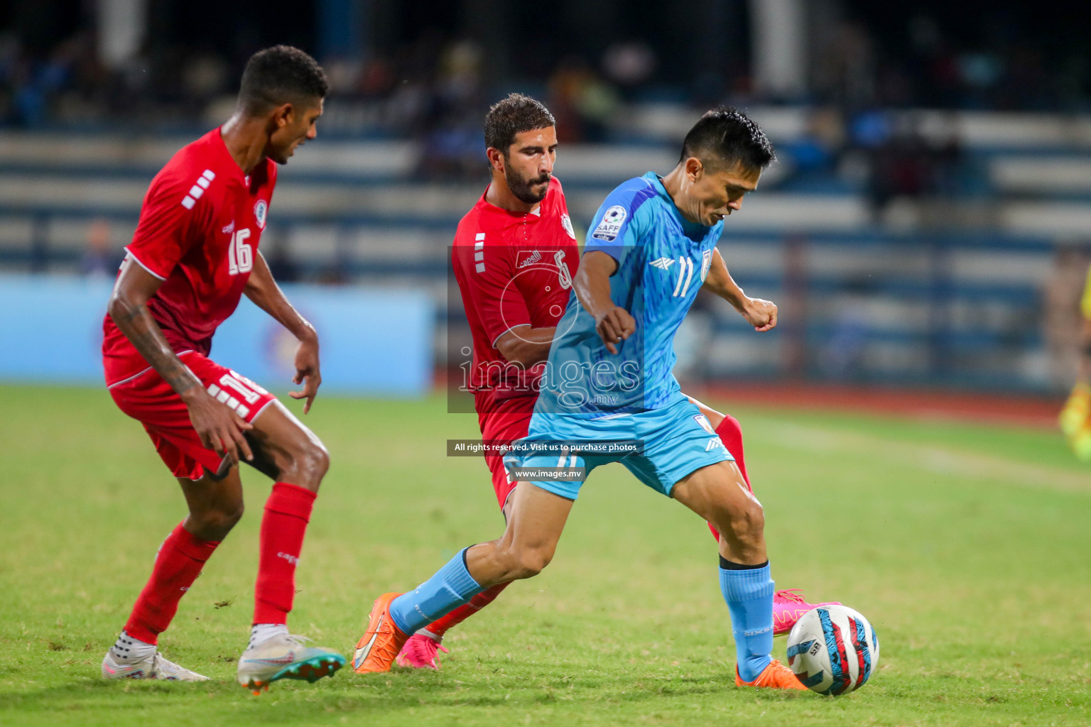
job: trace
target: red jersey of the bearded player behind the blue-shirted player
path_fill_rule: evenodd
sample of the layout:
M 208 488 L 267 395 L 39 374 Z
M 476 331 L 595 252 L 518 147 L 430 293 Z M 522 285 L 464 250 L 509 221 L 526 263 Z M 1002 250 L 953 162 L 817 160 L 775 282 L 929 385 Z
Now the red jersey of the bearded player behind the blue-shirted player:
M 553 178 L 526 215 L 489 204 L 482 194 L 458 223 L 452 264 L 473 336 L 470 388 L 492 400 L 537 397 L 541 366 L 521 373 L 495 343 L 517 326 L 549 328 L 564 315 L 579 249 L 561 182 Z M 478 411 L 484 413 L 480 405 Z

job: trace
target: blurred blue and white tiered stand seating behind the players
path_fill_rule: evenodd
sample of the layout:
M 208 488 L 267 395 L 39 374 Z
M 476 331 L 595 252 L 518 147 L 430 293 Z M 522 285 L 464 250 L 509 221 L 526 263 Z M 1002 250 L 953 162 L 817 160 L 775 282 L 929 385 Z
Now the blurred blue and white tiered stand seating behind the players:
M 856 132 L 864 141 L 854 142 L 850 131 L 815 170 L 807 146 L 814 110 L 751 111 L 781 149 L 780 163 L 730 220 L 722 250 L 748 290 L 781 303 L 783 332 L 755 340 L 714 305 L 715 336 L 700 349 L 708 363 L 694 375 L 1050 386 L 1040 296 L 1058 240 L 1080 242 L 1091 229 L 1081 197 L 1091 178 L 1082 173 L 1091 165 L 1091 122 L 885 112 L 888 130 L 911 128 L 932 148 L 956 138 L 959 181 L 946 194 L 896 191 L 876 210 L 868 187 L 875 172 L 867 169 L 875 142 L 867 134 Z M 577 228 L 586 228 L 618 180 L 672 167 L 676 138 L 696 113 L 636 107 L 614 130 L 620 143 L 564 145 L 556 173 Z M 266 243 L 271 259 L 289 279 L 423 286 L 443 315 L 446 245 L 483 187 L 483 169 L 477 178 L 429 181 L 420 175 L 427 152 L 419 141 L 334 136 L 285 168 Z M 75 272 L 96 219 L 109 221 L 117 256 L 148 178 L 185 141 L 0 133 L 0 264 Z

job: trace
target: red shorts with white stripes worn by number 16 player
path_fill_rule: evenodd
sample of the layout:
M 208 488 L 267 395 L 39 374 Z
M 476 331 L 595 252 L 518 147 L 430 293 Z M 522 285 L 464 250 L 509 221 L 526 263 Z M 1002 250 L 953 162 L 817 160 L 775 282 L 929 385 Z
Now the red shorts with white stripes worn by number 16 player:
M 208 393 L 247 422 L 253 422 L 276 400 L 245 376 L 220 366 L 196 351 L 181 353 L 178 358 L 208 389 Z M 181 397 L 154 368 L 148 367 L 118 381 L 109 390 L 118 409 L 144 425 L 155 450 L 176 477 L 200 480 L 205 470 L 214 474 L 226 473 L 227 457 L 201 444 Z

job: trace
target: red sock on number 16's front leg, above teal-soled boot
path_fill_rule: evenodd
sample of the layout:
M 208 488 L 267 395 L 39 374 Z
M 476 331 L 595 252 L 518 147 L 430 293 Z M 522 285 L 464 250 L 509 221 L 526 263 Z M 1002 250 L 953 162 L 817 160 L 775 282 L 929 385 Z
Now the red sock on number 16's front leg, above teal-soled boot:
M 296 597 L 296 565 L 311 519 L 315 493 L 278 482 L 265 501 L 262 518 L 254 623 L 287 623 Z

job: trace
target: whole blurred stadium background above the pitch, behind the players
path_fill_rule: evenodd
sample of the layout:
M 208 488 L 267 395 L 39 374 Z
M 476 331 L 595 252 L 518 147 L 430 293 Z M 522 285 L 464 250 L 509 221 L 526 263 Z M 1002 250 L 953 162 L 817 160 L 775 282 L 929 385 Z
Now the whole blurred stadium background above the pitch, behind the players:
M 481 118 L 519 90 L 558 119 L 580 239 L 611 187 L 673 167 L 709 106 L 774 140 L 721 251 L 782 324 L 756 336 L 700 299 L 676 342 L 685 381 L 1056 396 L 1091 240 L 1091 11 L 1020 4 L 3 3 L 0 327 L 22 346 L 0 377 L 99 380 L 106 291 L 151 177 L 227 118 L 251 52 L 289 43 L 333 93 L 262 250 L 302 286 L 331 390 L 431 389 L 446 245 L 488 179 Z M 230 363 L 283 371 L 274 324 L 245 320 L 220 334 Z M 335 351 L 373 363 L 335 371 Z

